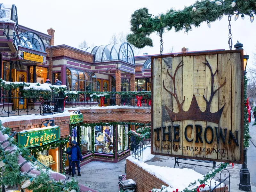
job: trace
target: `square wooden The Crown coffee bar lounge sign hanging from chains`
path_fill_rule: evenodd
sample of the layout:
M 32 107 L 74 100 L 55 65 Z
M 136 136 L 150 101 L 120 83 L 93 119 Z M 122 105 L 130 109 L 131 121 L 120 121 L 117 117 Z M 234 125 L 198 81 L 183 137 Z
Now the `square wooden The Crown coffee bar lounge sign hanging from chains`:
M 243 163 L 243 50 L 152 57 L 151 153 Z

